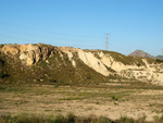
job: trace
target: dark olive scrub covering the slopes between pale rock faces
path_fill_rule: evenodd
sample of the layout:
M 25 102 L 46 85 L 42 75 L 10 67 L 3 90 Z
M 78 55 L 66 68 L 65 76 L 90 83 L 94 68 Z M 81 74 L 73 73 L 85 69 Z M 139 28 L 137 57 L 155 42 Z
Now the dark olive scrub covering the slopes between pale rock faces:
M 43 49 L 49 49 L 48 54 L 52 54 L 47 59 L 47 61 L 39 61 L 37 64 L 32 66 L 25 66 L 22 64 L 17 56 L 5 56 L 0 52 L 0 82 L 5 83 L 37 83 L 37 84 L 48 84 L 58 83 L 59 85 L 72 85 L 72 84 L 91 84 L 91 83 L 103 83 L 110 79 L 122 79 L 115 70 L 105 66 L 105 69 L 111 72 L 109 76 L 103 76 L 99 74 L 93 69 L 87 66 L 78 57 L 77 52 L 73 53 L 73 60 L 76 63 L 76 67 L 73 66 L 68 56 L 62 50 L 54 48 L 49 45 L 39 44 L 39 47 Z M 52 52 L 50 52 L 52 50 Z M 87 50 L 86 50 L 87 51 Z M 123 64 L 135 64 L 137 66 L 145 65 L 141 58 L 126 57 L 124 54 L 113 52 L 113 51 L 102 51 L 106 56 L 110 56 L 115 61 L 120 61 Z M 100 59 L 98 51 L 91 51 L 95 56 Z M 149 63 L 155 62 L 154 60 L 147 59 Z M 1 69 L 3 65 L 3 69 Z M 125 76 L 124 76 L 125 77 Z

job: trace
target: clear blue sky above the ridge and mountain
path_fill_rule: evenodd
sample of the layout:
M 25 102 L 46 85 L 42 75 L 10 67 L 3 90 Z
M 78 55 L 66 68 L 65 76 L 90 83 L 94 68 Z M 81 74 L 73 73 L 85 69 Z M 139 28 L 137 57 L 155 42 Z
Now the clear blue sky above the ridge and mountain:
M 163 0 L 0 0 L 0 44 L 48 44 L 152 56 L 163 49 Z

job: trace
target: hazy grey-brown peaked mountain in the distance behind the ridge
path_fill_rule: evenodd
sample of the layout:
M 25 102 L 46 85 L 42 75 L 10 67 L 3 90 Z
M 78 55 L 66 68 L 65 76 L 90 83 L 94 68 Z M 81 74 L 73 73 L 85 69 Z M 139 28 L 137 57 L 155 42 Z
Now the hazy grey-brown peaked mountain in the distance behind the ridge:
M 133 56 L 133 57 L 140 57 L 140 58 L 149 58 L 149 59 L 155 59 L 155 57 L 142 51 L 142 50 L 136 50 L 134 52 L 131 52 L 128 56 Z

